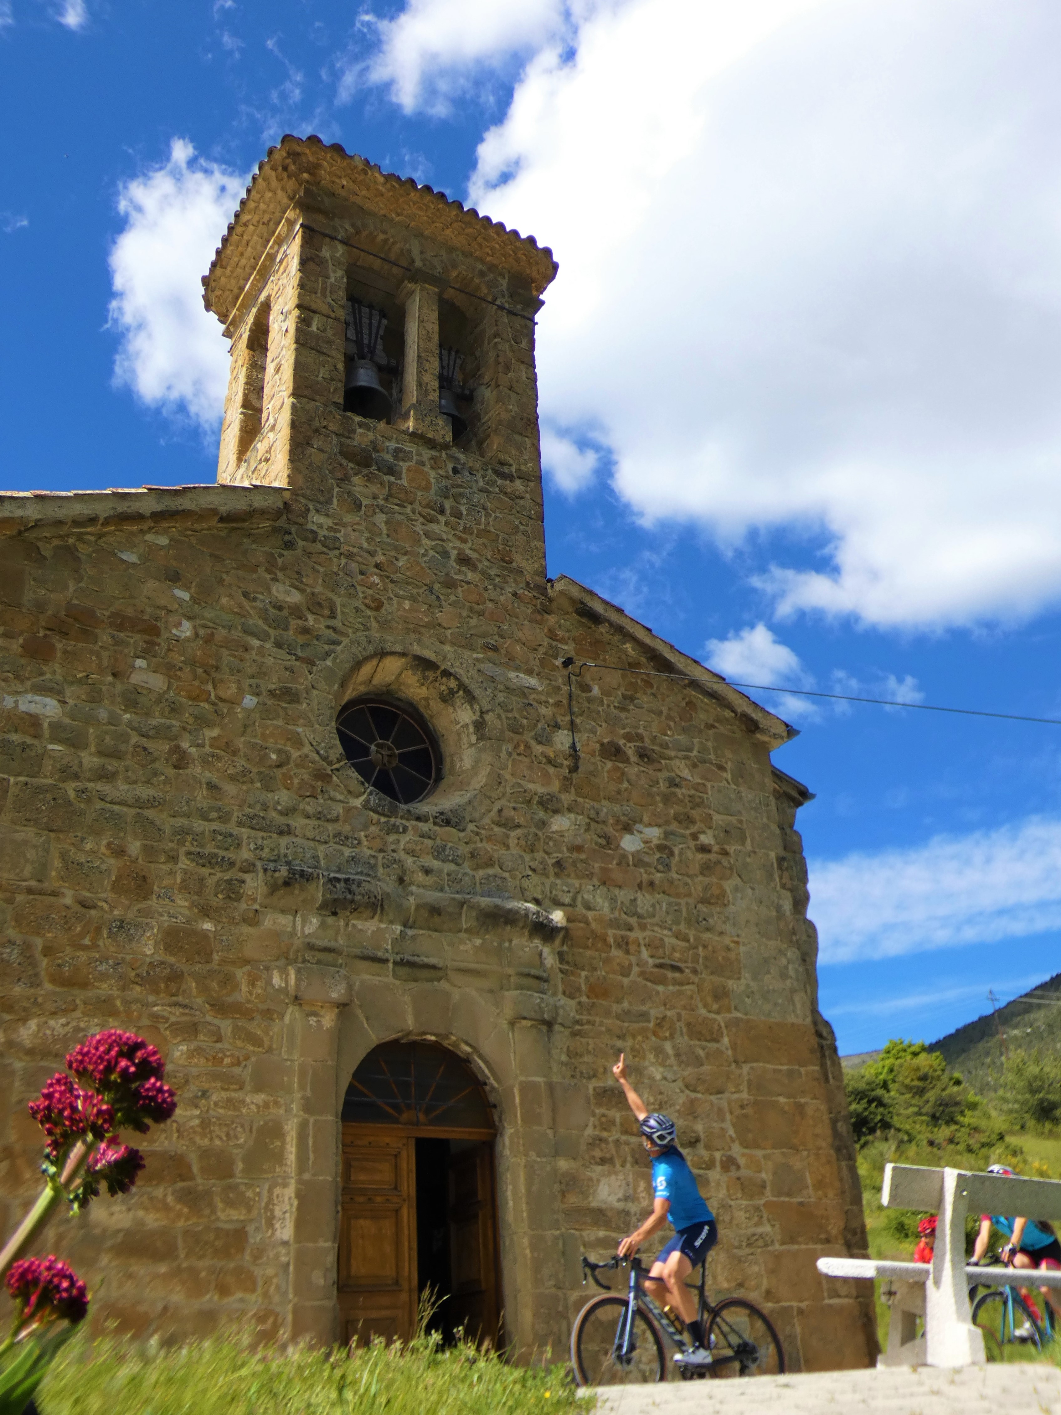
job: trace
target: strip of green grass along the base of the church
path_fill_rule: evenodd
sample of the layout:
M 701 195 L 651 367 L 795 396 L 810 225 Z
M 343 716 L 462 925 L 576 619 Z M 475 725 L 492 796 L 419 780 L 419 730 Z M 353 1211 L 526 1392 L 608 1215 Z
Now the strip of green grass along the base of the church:
M 430 1339 L 352 1356 L 103 1340 L 74 1343 L 37 1404 L 41 1415 L 570 1415 L 576 1392 L 563 1367 L 509 1365 L 474 1347 L 439 1351 Z

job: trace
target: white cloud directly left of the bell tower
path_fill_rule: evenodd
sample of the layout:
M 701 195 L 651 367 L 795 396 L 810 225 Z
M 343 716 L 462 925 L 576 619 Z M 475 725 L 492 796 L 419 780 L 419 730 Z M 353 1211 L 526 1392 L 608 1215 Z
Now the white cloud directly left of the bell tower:
M 202 306 L 199 277 L 245 185 L 245 177 L 202 161 L 191 143 L 175 139 L 167 163 L 122 187 L 124 231 L 110 249 L 117 382 L 209 430 L 225 402 L 228 350 Z

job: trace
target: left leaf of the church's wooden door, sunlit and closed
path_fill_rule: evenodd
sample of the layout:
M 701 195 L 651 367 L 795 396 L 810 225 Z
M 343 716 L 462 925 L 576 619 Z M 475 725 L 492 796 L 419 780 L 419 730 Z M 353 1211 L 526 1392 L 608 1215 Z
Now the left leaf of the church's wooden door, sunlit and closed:
M 338 1298 L 342 1340 L 407 1341 L 416 1330 L 414 1139 L 342 1126 Z

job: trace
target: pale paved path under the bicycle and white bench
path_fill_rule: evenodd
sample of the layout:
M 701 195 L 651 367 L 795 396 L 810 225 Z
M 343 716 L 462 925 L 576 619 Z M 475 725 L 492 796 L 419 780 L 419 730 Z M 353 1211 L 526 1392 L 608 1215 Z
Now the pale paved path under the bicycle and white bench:
M 1061 1415 L 1054 1365 L 931 1365 L 597 1392 L 597 1415 Z

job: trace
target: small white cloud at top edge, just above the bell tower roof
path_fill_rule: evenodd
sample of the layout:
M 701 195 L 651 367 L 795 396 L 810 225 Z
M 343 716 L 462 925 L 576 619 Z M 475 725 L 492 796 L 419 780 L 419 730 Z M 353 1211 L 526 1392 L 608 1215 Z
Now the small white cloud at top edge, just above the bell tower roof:
M 475 71 L 511 54 L 535 50 L 566 27 L 563 0 L 409 0 L 393 20 L 376 20 L 379 50 L 354 67 L 340 89 L 349 99 L 359 78 L 386 83 L 406 112 L 448 108 Z

